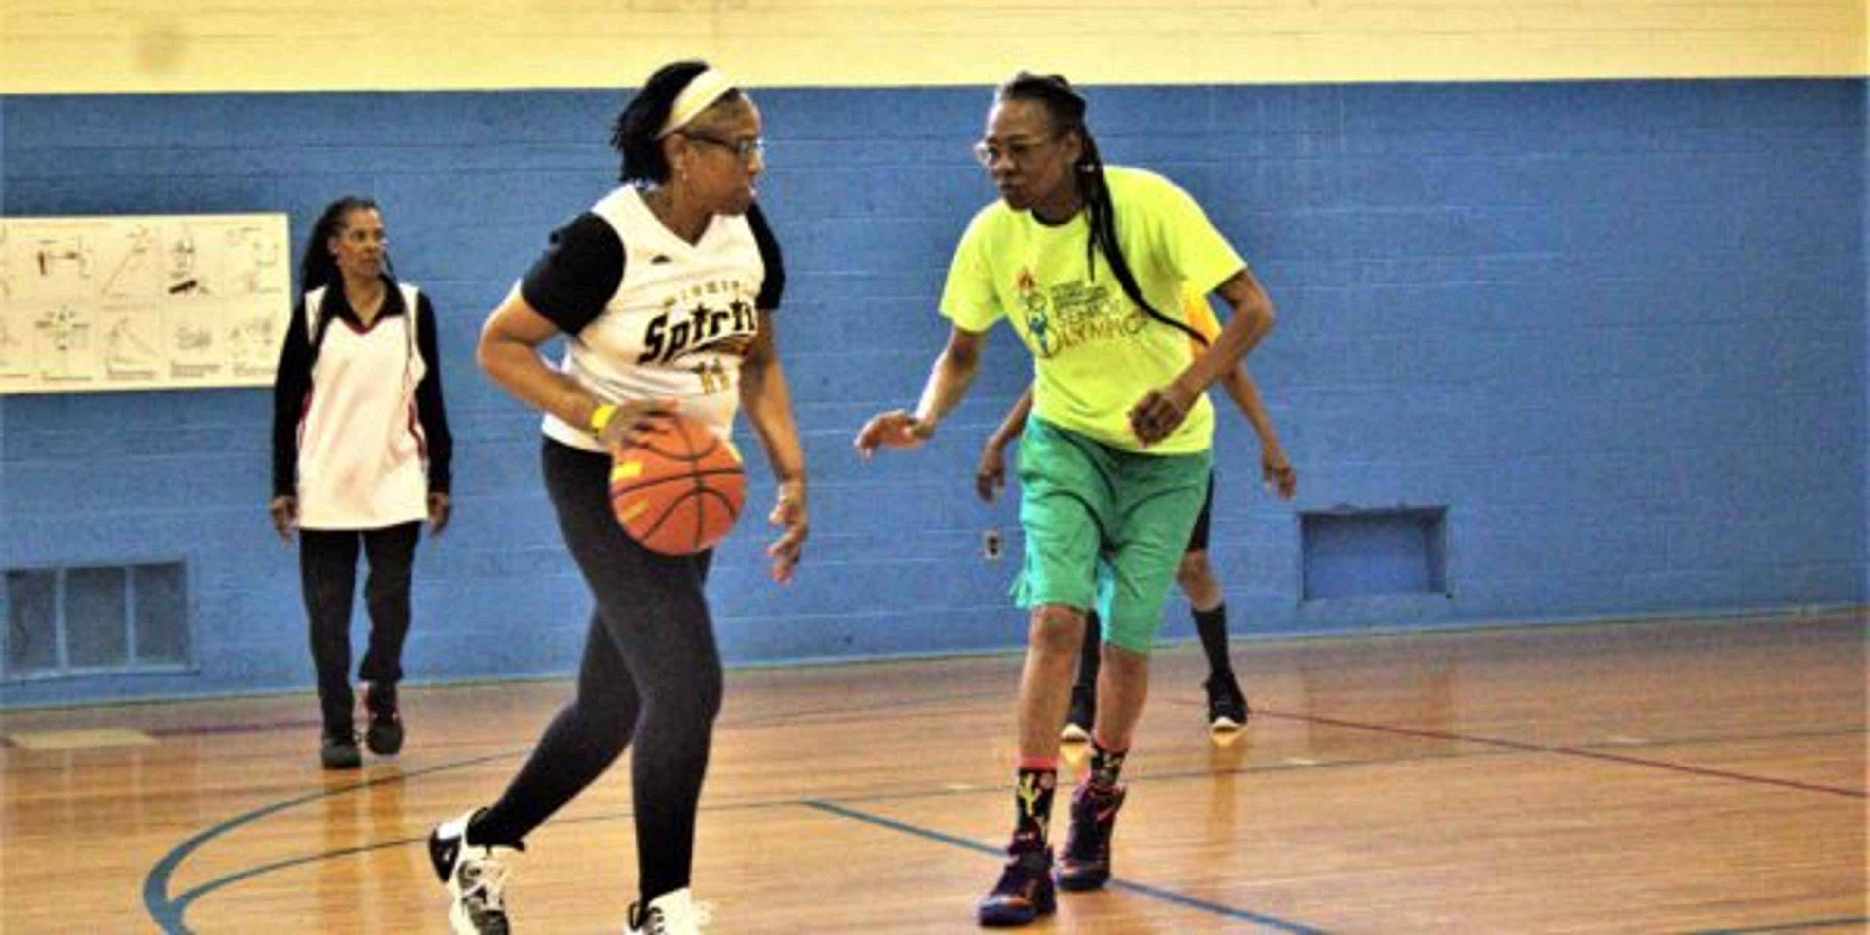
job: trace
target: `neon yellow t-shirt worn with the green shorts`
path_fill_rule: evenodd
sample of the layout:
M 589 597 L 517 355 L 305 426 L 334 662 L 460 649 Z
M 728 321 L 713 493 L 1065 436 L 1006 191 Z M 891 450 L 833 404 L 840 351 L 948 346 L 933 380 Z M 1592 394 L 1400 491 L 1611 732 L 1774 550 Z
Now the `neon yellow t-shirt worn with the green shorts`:
M 1187 290 L 1206 294 L 1245 264 L 1195 198 L 1141 168 L 1105 166 L 1116 239 L 1143 295 L 1187 320 Z M 1187 454 L 1214 443 L 1214 406 L 1195 400 L 1169 438 L 1143 449 L 1129 408 L 1167 387 L 1193 361 L 1187 335 L 1154 320 L 1124 294 L 1100 252 L 1085 262 L 1088 215 L 1043 224 L 993 202 L 974 215 L 948 267 L 941 310 L 963 331 L 1002 316 L 1032 352 L 1032 411 L 1051 424 L 1122 451 Z

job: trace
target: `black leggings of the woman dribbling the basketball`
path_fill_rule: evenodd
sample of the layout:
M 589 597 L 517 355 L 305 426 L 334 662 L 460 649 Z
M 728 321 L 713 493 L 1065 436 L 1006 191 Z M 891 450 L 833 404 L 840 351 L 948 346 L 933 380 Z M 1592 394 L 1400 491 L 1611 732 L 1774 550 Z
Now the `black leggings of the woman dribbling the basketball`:
M 544 443 L 546 492 L 565 546 L 597 597 L 578 696 L 546 727 L 507 793 L 469 828 L 516 845 L 636 744 L 630 787 L 638 886 L 647 903 L 688 886 L 696 806 L 720 711 L 720 651 L 709 619 L 709 554 L 638 546 L 610 512 L 610 456 Z

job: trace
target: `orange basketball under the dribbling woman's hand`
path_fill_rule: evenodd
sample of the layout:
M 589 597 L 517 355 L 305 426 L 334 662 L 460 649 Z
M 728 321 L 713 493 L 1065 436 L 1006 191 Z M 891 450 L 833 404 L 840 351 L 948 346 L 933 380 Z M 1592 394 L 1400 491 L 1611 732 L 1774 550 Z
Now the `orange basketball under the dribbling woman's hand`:
M 610 509 L 643 548 L 694 555 L 714 548 L 746 501 L 741 454 L 701 423 L 675 417 L 610 464 Z

